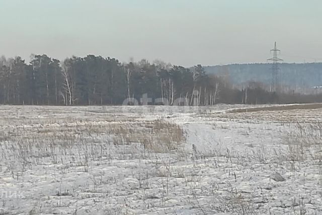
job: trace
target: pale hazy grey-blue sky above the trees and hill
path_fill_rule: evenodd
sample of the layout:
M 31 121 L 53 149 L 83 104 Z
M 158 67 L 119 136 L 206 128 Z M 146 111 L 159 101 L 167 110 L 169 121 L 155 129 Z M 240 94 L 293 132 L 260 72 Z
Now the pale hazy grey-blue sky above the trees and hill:
M 191 66 L 322 61 L 320 0 L 0 0 L 0 55 Z M 28 61 L 28 60 L 27 60 Z

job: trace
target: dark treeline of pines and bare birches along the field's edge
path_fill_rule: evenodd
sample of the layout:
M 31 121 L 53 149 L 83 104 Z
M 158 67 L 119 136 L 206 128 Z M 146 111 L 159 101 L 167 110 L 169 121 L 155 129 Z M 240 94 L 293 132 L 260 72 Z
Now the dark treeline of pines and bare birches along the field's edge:
M 156 105 L 301 103 L 320 98 L 270 93 L 252 82 L 244 90 L 234 89 L 229 80 L 206 74 L 201 65 L 121 63 L 94 55 L 62 62 L 45 54 L 32 55 L 29 64 L 19 56 L 3 56 L 0 87 L 1 104 L 26 105 L 120 105 L 127 98 L 141 101 L 144 94 L 151 98 L 148 104 Z

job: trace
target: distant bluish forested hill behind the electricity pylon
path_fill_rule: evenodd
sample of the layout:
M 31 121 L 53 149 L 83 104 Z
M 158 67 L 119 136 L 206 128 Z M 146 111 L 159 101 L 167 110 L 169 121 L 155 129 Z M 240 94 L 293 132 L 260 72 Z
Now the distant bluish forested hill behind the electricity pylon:
M 232 84 L 242 86 L 249 81 L 271 82 L 271 66 L 267 63 L 204 66 L 209 74 L 225 76 Z M 322 63 L 282 63 L 280 83 L 293 89 L 322 86 Z

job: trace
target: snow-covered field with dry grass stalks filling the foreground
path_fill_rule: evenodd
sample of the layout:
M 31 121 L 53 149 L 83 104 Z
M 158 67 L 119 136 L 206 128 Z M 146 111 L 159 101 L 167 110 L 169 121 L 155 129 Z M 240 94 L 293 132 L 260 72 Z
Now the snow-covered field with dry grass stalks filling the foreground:
M 322 214 L 322 108 L 252 108 L 0 106 L 0 214 Z

